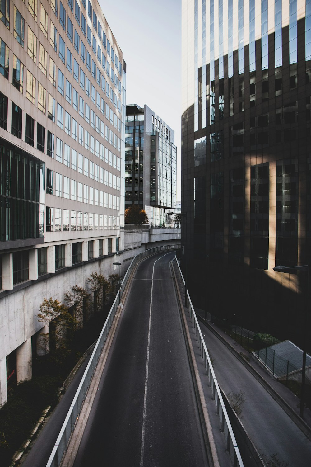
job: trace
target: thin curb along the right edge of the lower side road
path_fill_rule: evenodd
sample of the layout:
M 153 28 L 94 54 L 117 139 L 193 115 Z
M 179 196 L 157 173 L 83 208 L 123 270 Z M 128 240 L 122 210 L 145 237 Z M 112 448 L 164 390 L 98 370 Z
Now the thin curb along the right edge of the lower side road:
M 297 427 L 304 433 L 304 435 L 311 441 L 311 428 L 307 425 L 304 420 L 299 417 L 299 415 L 290 407 L 290 405 L 280 396 L 275 389 L 270 386 L 256 369 L 252 367 L 248 361 L 241 357 L 237 350 L 221 335 L 219 334 L 213 326 L 211 326 L 207 321 L 197 315 L 197 318 L 204 323 L 207 328 L 219 339 L 221 342 L 236 356 L 236 358 L 244 365 L 245 368 L 256 378 L 258 382 L 263 386 L 264 389 L 273 397 L 273 399 L 280 405 L 280 407 L 287 413 L 291 420 L 297 425 Z

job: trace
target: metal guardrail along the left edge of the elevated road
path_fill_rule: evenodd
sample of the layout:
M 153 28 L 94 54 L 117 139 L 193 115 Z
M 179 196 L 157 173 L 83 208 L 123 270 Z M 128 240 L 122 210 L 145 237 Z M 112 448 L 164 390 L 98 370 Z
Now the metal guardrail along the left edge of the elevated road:
M 145 250 L 141 253 L 138 253 L 138 255 L 136 255 L 132 259 L 131 264 L 125 273 L 124 279 L 122 281 L 122 286 L 121 286 L 121 297 L 124 292 L 125 286 L 129 280 L 131 272 L 139 260 L 145 258 L 146 256 L 153 255 L 154 253 L 158 253 L 159 251 L 176 250 L 177 248 L 178 248 L 178 245 L 165 245 L 162 247 L 150 248 L 149 250 Z M 99 335 L 99 338 L 97 339 L 96 345 L 90 357 L 90 361 L 87 367 L 85 368 L 79 387 L 76 390 L 76 395 L 74 396 L 73 401 L 70 405 L 70 409 L 62 425 L 58 438 L 56 439 L 55 445 L 48 459 L 48 463 L 46 467 L 59 467 L 61 464 L 62 457 L 64 453 L 66 452 L 67 446 L 69 444 L 70 436 L 75 429 L 76 421 L 77 421 L 77 418 L 79 417 L 79 413 L 81 411 L 82 404 L 86 397 L 87 390 L 89 389 L 90 381 L 92 379 L 95 368 L 97 366 L 99 356 L 102 353 L 104 344 L 106 342 L 108 333 L 111 328 L 113 318 L 115 317 L 117 308 L 119 306 L 119 293 L 120 293 L 120 290 L 117 293 L 117 296 L 111 306 L 109 315 L 105 321 L 104 327 Z

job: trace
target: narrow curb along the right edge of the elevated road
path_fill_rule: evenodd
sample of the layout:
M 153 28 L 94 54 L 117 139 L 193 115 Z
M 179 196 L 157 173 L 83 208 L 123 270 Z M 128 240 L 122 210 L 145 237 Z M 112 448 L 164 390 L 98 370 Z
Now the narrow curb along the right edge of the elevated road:
M 208 411 L 207 411 L 207 405 L 206 405 L 206 401 L 204 397 L 203 387 L 202 387 L 202 383 L 200 380 L 199 369 L 198 369 L 198 365 L 195 359 L 192 340 L 191 340 L 189 328 L 187 325 L 187 318 L 186 318 L 185 310 L 183 307 L 183 301 L 181 299 L 180 289 L 178 286 L 178 281 L 177 281 L 175 269 L 173 267 L 172 262 L 173 260 L 170 262 L 170 266 L 173 272 L 174 286 L 175 286 L 175 290 L 176 290 L 177 297 L 178 297 L 177 301 L 178 301 L 180 314 L 182 318 L 181 322 L 182 322 L 184 335 L 185 335 L 185 342 L 186 342 L 187 354 L 188 354 L 188 359 L 189 359 L 190 368 L 191 368 L 192 379 L 194 382 L 194 390 L 195 390 L 195 395 L 196 395 L 200 419 L 201 419 L 201 426 L 202 426 L 202 431 L 204 435 L 207 458 L 208 458 L 208 462 L 211 467 L 220 467 L 216 445 L 214 441 L 214 436 L 212 432 L 212 426 L 210 423 L 210 418 L 209 418 Z M 186 339 L 186 336 L 187 336 L 187 339 Z

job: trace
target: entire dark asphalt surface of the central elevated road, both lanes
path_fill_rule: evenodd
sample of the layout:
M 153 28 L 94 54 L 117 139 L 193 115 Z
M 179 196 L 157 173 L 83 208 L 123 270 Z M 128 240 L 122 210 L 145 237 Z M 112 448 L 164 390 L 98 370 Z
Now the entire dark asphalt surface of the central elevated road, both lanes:
M 172 258 L 138 266 L 75 467 L 208 466 Z

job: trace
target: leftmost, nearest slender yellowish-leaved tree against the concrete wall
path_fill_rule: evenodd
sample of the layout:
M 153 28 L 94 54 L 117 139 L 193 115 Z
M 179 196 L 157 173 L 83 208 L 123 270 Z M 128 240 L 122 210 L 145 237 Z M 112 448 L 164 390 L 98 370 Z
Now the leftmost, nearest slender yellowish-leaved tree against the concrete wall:
M 37 314 L 38 321 L 48 326 L 48 333 L 41 333 L 43 350 L 55 352 L 59 347 L 65 347 L 67 330 L 74 327 L 74 320 L 67 306 L 58 300 L 44 298 Z

